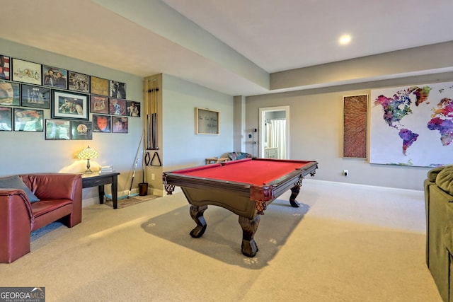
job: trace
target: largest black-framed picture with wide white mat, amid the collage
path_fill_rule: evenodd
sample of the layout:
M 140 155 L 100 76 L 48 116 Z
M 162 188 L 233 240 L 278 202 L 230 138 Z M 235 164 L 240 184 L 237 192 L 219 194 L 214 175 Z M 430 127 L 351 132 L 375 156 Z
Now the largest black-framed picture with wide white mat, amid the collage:
M 52 90 L 51 117 L 88 120 L 88 95 Z

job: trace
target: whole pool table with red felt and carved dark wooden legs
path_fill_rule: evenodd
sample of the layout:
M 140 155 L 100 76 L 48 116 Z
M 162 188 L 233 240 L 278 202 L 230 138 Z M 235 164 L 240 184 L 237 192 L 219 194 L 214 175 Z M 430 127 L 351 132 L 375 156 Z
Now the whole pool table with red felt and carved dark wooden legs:
M 200 238 L 206 231 L 203 213 L 208 205 L 229 209 L 239 215 L 242 228 L 243 255 L 254 257 L 258 252 L 253 236 L 260 215 L 268 204 L 291 190 L 289 203 L 299 207 L 296 197 L 306 175 L 314 176 L 318 162 L 269 158 L 246 158 L 193 168 L 172 170 L 162 175 L 167 194 L 175 186 L 183 190 L 190 204 L 190 216 L 197 226 L 190 232 Z

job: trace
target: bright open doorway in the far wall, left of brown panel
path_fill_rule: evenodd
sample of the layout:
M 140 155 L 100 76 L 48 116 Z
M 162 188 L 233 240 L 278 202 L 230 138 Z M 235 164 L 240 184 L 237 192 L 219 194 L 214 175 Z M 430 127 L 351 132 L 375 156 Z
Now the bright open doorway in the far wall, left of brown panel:
M 289 158 L 289 106 L 260 108 L 260 158 Z

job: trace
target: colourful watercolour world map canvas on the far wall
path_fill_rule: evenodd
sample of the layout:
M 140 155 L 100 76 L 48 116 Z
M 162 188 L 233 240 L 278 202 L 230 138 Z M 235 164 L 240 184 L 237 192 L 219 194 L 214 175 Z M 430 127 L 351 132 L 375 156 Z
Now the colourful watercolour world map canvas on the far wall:
M 371 91 L 369 162 L 453 164 L 453 82 Z

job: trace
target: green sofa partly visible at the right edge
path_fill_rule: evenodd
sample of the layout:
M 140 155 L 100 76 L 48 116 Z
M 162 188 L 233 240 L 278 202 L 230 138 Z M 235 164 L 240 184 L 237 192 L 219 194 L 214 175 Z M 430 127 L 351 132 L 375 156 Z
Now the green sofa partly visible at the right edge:
M 453 301 L 453 165 L 425 180 L 426 264 L 443 301 Z

